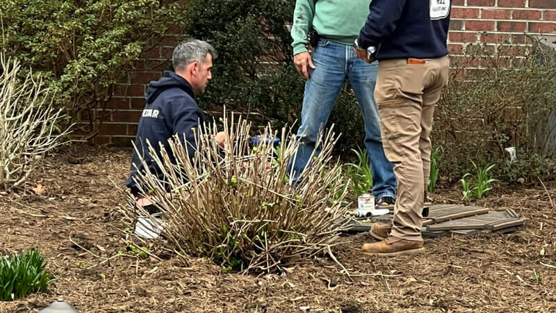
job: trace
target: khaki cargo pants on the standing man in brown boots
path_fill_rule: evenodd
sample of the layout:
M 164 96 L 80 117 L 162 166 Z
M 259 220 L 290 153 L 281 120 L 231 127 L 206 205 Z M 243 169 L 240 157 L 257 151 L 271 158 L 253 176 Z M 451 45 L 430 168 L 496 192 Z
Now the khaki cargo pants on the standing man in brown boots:
M 390 235 L 411 241 L 423 240 L 421 211 L 430 173 L 432 116 L 448 83 L 450 63 L 448 56 L 422 61 L 380 61 L 375 88 L 384 153 L 398 179 Z

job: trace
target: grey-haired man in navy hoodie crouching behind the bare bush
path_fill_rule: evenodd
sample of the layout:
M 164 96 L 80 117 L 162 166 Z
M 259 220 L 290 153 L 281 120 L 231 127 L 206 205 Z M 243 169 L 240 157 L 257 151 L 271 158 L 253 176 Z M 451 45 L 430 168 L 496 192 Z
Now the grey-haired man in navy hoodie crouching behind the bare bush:
M 175 47 L 172 55 L 174 72 L 166 71 L 161 79 L 149 83 L 147 105 L 139 120 L 135 145 L 149 166 L 150 172 L 157 173 L 158 179 L 164 180 L 164 175 L 153 161 L 146 141 L 148 140 L 153 147 L 158 147 L 158 143 L 161 143 L 174 163 L 174 156 L 168 148 L 168 139 L 178 134 L 184 142 L 183 145 L 187 147 L 188 155 L 193 157 L 197 150 L 193 129 L 198 129 L 205 120 L 203 112 L 195 102 L 195 95 L 204 93 L 206 84 L 211 80 L 211 67 L 215 57 L 215 49 L 204 41 L 181 42 Z M 222 145 L 224 138 L 224 133 L 220 132 L 215 139 Z M 158 157 L 161 156 L 160 152 L 157 154 Z M 126 186 L 136 198 L 142 198 L 140 188 L 133 179 L 138 171 L 145 171 L 145 168 L 138 152 L 134 151 L 131 157 L 131 174 L 126 179 Z

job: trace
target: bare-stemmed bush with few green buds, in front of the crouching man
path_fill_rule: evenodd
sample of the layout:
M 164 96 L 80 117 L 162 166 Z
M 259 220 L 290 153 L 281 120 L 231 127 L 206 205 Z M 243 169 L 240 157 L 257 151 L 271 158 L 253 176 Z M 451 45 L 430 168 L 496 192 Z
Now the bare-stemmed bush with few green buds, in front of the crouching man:
M 142 193 L 162 211 L 166 248 L 185 259 L 208 257 L 224 271 L 244 272 L 276 271 L 291 259 L 332 255 L 330 247 L 345 227 L 341 203 L 346 192 L 341 168 L 332 163 L 334 133 L 319 138 L 322 152 L 311 157 L 311 166 L 293 185 L 287 170 L 299 144 L 295 136 L 282 129 L 281 145 L 273 147 L 265 144 L 277 135 L 268 127 L 261 143 L 250 147 L 249 123 L 241 118 L 234 122 L 233 116 L 223 122 L 228 138 L 224 147 L 211 140 L 215 123 L 199 129 L 202 148 L 193 160 L 174 137 L 170 151 L 162 149 L 155 158 L 166 181 L 152 172 L 137 179 Z M 156 150 L 149 143 L 152 155 Z M 174 154 L 176 164 L 168 153 Z M 131 209 L 124 213 L 129 222 L 135 217 Z

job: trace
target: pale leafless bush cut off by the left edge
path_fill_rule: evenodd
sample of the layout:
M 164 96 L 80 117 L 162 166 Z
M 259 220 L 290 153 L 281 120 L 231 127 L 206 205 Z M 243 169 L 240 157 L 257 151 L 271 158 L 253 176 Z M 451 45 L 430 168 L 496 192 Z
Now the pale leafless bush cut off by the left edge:
M 59 131 L 63 110 L 54 109 L 49 89 L 31 73 L 17 76 L 19 61 L 0 51 L 0 188 L 22 186 L 44 154 L 67 143 Z

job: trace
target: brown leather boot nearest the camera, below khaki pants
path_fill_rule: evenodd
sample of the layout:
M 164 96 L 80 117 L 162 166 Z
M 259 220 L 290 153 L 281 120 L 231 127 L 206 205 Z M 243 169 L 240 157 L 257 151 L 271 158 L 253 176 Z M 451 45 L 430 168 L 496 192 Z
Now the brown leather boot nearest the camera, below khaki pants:
M 423 241 L 409 241 L 392 236 L 386 237 L 384 241 L 365 243 L 363 253 L 366 255 L 377 255 L 395 257 L 396 255 L 418 255 L 425 252 Z

